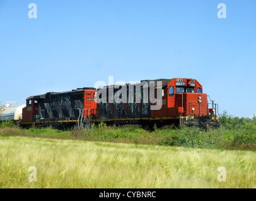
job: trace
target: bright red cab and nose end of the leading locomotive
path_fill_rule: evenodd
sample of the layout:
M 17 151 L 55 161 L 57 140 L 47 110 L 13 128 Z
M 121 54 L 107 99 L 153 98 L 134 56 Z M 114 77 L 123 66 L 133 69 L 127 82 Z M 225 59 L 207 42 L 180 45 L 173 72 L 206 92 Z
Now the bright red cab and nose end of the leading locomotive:
M 195 79 L 173 79 L 168 85 L 167 102 L 170 115 L 185 117 L 187 124 L 218 124 L 218 105 L 214 102 L 208 103 L 207 94 L 202 92 L 202 85 Z

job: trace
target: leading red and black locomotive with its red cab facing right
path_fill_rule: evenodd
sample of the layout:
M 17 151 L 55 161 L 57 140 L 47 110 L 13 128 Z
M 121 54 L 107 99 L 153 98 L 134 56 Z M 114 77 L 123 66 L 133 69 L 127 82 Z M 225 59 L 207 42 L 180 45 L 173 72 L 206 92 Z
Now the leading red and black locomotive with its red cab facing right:
M 160 86 L 157 82 L 161 83 Z M 150 84 L 154 87 L 151 92 Z M 160 90 L 158 98 L 156 90 Z M 141 80 L 140 84 L 106 86 L 101 89 L 101 94 L 105 91 L 108 98 L 97 104 L 96 121 L 151 126 L 219 126 L 218 104 L 214 104 L 211 99 L 208 102 L 209 96 L 202 90 L 202 85 L 195 79 Z M 154 97 L 150 97 L 152 92 Z M 126 102 L 120 96 L 127 97 Z

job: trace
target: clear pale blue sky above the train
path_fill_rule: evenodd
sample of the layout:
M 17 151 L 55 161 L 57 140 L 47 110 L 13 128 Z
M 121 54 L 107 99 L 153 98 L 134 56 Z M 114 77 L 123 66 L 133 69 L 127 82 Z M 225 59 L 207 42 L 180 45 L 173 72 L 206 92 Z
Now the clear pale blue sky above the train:
M 37 19 L 28 4 L 37 4 Z M 219 3 L 226 19 L 219 19 Z M 0 100 L 95 82 L 197 79 L 233 116 L 256 112 L 256 1 L 0 0 Z

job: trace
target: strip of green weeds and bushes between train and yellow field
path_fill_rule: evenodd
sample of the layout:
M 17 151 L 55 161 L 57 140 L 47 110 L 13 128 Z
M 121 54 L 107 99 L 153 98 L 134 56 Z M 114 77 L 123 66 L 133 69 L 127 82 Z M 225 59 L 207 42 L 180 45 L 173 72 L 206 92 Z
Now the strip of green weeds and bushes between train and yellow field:
M 256 117 L 239 119 L 221 117 L 218 129 L 204 131 L 199 128 L 164 128 L 149 132 L 140 126 L 107 126 L 103 122 L 90 129 L 58 129 L 32 127 L 19 129 L 11 122 L 4 122 L 0 136 L 29 136 L 33 138 L 78 139 L 86 141 L 106 141 L 115 143 L 155 144 L 161 146 L 181 146 L 187 148 L 256 150 Z

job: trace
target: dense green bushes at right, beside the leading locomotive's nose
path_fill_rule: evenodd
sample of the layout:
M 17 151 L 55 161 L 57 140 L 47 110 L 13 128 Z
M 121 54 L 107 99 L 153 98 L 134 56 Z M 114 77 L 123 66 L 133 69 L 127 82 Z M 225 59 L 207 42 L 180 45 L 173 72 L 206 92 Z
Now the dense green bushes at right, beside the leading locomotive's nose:
M 190 148 L 256 150 L 256 117 L 238 118 L 224 112 L 220 122 L 220 128 L 209 131 L 184 127 L 164 136 L 158 144 Z

